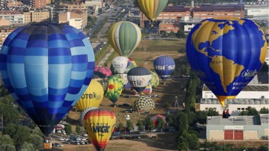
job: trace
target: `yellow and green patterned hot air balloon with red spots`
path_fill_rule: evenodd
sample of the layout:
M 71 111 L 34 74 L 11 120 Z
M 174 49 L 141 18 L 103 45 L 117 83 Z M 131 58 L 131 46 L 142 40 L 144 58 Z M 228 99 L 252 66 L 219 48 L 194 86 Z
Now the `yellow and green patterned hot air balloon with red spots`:
M 120 97 L 123 89 L 123 80 L 118 75 L 108 77 L 108 90 L 105 96 L 115 104 Z

